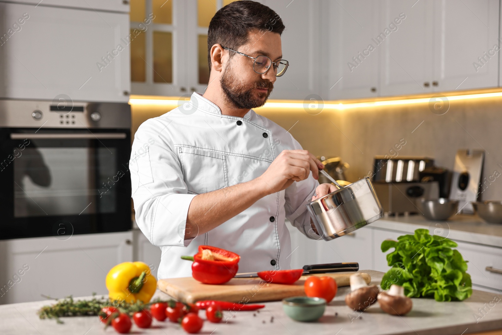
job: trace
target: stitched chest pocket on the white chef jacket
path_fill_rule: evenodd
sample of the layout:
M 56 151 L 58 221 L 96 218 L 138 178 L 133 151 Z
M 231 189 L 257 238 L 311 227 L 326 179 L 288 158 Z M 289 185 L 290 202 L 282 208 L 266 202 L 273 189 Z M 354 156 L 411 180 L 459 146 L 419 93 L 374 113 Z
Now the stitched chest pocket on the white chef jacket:
M 185 147 L 178 147 L 178 155 L 188 193 L 207 193 L 228 186 L 225 155 Z

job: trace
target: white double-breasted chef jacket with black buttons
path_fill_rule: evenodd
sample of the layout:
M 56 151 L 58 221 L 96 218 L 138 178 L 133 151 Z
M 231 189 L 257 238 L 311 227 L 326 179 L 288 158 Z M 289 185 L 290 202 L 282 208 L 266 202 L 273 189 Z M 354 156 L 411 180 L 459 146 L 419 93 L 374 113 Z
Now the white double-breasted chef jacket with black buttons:
M 306 203 L 319 182 L 312 173 L 267 195 L 196 238 L 184 240 L 193 197 L 261 176 L 283 151 L 302 149 L 290 133 L 249 110 L 243 118 L 222 115 L 218 106 L 193 93 L 190 102 L 144 122 L 135 134 L 131 160 L 136 222 L 162 250 L 159 278 L 189 277 L 199 245 L 240 255 L 239 272 L 289 269 L 287 217 L 310 239 Z M 231 188 L 228 188 L 231 192 Z

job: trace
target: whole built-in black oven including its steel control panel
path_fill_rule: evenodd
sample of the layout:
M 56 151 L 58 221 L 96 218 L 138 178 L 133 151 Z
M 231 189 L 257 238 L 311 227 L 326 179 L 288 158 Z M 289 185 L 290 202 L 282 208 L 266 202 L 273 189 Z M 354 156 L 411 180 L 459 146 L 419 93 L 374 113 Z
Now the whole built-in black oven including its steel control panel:
M 0 100 L 0 239 L 128 231 L 127 103 Z

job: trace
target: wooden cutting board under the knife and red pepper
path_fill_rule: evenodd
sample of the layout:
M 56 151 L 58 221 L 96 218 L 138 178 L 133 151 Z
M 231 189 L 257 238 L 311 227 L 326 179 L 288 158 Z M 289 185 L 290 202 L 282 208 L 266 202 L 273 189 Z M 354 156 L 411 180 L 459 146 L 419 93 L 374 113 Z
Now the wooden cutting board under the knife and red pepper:
M 338 287 L 349 286 L 349 277 L 355 272 L 321 273 L 313 276 L 332 277 Z M 358 272 L 369 284 L 371 277 Z M 233 278 L 222 285 L 202 284 L 192 277 L 159 279 L 157 287 L 174 299 L 186 303 L 199 300 L 223 300 L 232 302 L 275 301 L 287 297 L 305 295 L 303 284 L 309 276 L 302 276 L 293 285 L 269 284 L 260 278 Z

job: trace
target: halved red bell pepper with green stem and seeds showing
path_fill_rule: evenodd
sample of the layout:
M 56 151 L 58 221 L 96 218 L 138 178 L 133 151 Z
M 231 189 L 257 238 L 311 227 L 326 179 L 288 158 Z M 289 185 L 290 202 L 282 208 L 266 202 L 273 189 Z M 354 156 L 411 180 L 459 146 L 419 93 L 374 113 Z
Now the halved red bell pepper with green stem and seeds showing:
M 195 256 L 181 258 L 193 261 L 192 277 L 204 284 L 224 284 L 239 269 L 239 255 L 211 246 L 199 246 L 199 252 Z

